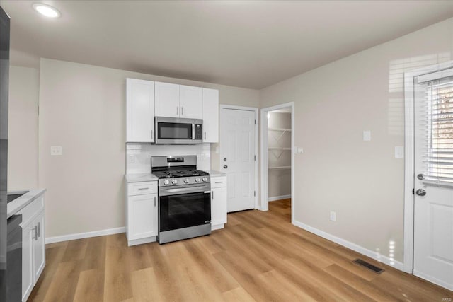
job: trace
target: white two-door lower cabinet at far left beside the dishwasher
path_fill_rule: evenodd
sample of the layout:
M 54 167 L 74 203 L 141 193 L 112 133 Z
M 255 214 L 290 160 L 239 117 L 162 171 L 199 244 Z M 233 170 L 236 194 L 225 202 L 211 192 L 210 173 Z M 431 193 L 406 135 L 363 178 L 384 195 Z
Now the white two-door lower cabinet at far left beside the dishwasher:
M 45 267 L 44 197 L 18 214 L 22 215 L 22 301 L 27 301 Z

